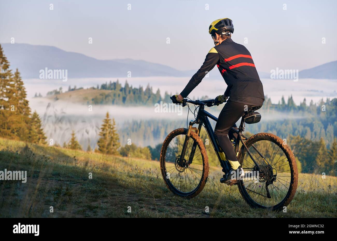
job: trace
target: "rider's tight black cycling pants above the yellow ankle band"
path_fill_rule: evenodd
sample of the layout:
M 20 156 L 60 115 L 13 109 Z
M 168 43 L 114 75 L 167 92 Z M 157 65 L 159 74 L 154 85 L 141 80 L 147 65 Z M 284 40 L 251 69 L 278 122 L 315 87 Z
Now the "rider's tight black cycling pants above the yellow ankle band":
M 224 151 L 226 158 L 230 161 L 237 161 L 237 158 L 234 153 L 233 144 L 228 138 L 229 130 L 231 130 L 232 127 L 236 127 L 235 123 L 250 107 L 252 107 L 252 105 L 228 101 L 219 114 L 214 134 L 217 137 L 218 143 Z M 235 138 L 237 137 L 237 134 L 233 132 L 229 133 L 229 135 L 233 135 Z

